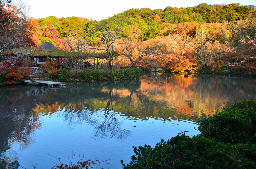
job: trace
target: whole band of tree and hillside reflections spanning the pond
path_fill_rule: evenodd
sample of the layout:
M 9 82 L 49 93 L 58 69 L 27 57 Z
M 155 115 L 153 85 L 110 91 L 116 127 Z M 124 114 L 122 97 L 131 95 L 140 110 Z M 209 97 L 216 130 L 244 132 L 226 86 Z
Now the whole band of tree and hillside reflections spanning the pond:
M 33 143 L 33 130 L 41 126 L 40 114 L 57 113 L 70 128 L 86 122 L 93 126 L 95 138 L 124 140 L 130 132 L 122 128 L 119 116 L 197 122 L 200 110 L 210 113 L 223 101 L 256 99 L 253 78 L 159 75 L 133 81 L 79 82 L 77 86 L 68 83 L 61 89 L 1 87 L 0 152 L 7 151 L 14 142 L 24 148 Z M 29 93 L 31 90 L 36 92 Z

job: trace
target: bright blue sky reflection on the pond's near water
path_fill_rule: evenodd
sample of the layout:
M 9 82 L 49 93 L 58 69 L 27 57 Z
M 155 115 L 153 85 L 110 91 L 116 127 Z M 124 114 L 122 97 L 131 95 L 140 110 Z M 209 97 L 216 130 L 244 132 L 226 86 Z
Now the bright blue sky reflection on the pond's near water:
M 155 146 L 161 138 L 169 139 L 176 136 L 179 130 L 189 131 L 187 135 L 198 133 L 194 129 L 197 124 L 187 120 L 170 120 L 167 123 L 162 117 L 142 120 L 124 118 L 123 115 L 115 112 L 109 113 L 109 118 L 106 120 L 104 110 L 94 110 L 93 114 L 90 110 L 83 110 L 82 114 L 85 117 L 83 119 L 79 117 L 79 113 L 68 114 L 72 117 L 67 117 L 68 115 L 63 111 L 51 116 L 40 115 L 43 125 L 40 130 L 35 131 L 36 144 L 31 144 L 17 155 L 22 167 L 32 167 L 31 164 L 36 163 L 36 168 L 40 169 L 50 168 L 55 165 L 54 163 L 59 164 L 52 156 L 68 163 L 68 151 L 69 157 L 73 151 L 73 154 L 78 156 L 79 153 L 80 156 L 84 153 L 85 159 L 96 157 L 100 161 L 110 159 L 107 161 L 109 164 L 106 162 L 100 164 L 103 168 L 121 168 L 120 160 L 125 163 L 130 162 L 130 157 L 133 155 L 132 146 L 144 144 Z M 63 118 L 63 115 L 66 118 Z M 69 124 L 68 118 L 72 118 L 72 124 Z M 12 145 L 11 150 L 19 151 L 17 143 Z M 73 161 L 78 160 L 78 156 Z

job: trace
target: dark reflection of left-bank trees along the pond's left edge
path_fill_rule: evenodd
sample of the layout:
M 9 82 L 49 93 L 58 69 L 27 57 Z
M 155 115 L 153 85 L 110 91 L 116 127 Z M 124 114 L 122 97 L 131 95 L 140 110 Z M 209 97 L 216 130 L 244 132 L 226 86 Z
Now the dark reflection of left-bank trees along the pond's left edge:
M 14 143 L 23 150 L 33 144 L 33 130 L 40 128 L 38 117 L 31 110 L 32 97 L 24 97 L 30 88 L 13 85 L 0 88 L 0 168 L 18 168 L 15 150 L 9 151 Z

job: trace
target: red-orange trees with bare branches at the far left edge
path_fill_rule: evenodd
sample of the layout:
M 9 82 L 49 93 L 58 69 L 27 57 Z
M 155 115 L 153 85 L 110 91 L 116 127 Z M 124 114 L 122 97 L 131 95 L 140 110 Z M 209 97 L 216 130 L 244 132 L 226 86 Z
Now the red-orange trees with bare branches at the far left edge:
M 22 68 L 24 55 L 29 53 L 26 48 L 35 42 L 27 11 L 28 7 L 22 2 L 0 3 L 0 74 L 5 74 L 5 84 L 17 83 L 28 74 L 28 69 Z

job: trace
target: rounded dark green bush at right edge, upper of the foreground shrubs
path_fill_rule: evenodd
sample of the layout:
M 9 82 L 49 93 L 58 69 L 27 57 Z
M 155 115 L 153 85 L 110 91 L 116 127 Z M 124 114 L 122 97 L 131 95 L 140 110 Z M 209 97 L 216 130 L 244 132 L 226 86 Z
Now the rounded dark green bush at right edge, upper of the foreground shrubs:
M 256 143 L 256 100 L 242 100 L 224 107 L 212 116 L 199 119 L 205 137 L 231 144 Z

